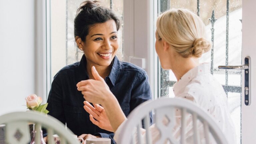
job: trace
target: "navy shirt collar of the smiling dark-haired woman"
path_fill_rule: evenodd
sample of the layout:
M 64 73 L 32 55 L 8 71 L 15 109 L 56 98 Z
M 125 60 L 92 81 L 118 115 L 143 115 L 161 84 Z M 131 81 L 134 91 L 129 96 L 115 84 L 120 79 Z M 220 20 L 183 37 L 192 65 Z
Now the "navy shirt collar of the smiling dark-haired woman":
M 86 57 L 83 54 L 83 56 L 82 56 L 82 58 L 80 60 L 80 63 L 79 63 L 79 69 L 80 69 L 81 73 L 85 74 L 85 76 L 86 76 L 85 78 L 89 79 L 89 76 L 88 76 L 88 73 L 87 73 L 87 69 L 86 69 L 86 65 L 87 65 Z M 120 68 L 121 68 L 121 63 L 118 60 L 117 56 L 115 56 L 114 59 L 113 59 L 112 69 L 111 69 L 109 75 L 107 76 L 110 79 L 110 81 L 111 81 L 113 86 L 115 86 L 115 83 L 116 83 L 117 76 L 119 74 Z

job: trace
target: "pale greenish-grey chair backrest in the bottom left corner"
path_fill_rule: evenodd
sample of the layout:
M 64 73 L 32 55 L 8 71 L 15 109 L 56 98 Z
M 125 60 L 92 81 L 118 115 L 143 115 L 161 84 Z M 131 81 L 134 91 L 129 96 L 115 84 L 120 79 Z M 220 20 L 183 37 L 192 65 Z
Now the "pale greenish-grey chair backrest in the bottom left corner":
M 72 137 L 72 131 L 65 129 L 65 125 L 50 115 L 43 115 L 38 112 L 13 112 L 0 116 L 0 125 L 5 124 L 5 141 L 7 144 L 28 144 L 31 141 L 29 123 L 35 124 L 35 143 L 39 144 L 41 139 L 41 128 L 45 128 L 48 133 L 47 143 L 55 144 L 53 134 L 57 134 L 62 144 L 79 144 Z M 20 139 L 14 135 L 19 132 Z M 40 143 L 41 144 L 41 143 Z

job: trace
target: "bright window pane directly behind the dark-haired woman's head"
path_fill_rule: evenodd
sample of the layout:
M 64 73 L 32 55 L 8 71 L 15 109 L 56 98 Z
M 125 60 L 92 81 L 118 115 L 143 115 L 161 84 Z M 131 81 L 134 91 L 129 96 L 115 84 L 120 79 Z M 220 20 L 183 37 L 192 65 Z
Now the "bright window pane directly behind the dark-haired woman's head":
M 80 61 L 83 51 L 77 48 L 74 38 L 76 10 L 84 0 L 51 1 L 51 80 L 64 66 Z M 123 16 L 123 0 L 104 0 L 100 4 Z M 119 29 L 117 57 L 123 60 L 123 25 Z

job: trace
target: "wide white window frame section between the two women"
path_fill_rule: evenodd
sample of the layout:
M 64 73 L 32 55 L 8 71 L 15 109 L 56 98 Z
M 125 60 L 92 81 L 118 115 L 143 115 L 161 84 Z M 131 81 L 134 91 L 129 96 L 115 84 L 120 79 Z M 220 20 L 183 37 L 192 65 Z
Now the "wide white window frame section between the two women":
M 124 61 L 144 68 L 149 76 L 153 98 L 157 97 L 157 61 L 154 57 L 154 20 L 157 1 L 124 0 Z

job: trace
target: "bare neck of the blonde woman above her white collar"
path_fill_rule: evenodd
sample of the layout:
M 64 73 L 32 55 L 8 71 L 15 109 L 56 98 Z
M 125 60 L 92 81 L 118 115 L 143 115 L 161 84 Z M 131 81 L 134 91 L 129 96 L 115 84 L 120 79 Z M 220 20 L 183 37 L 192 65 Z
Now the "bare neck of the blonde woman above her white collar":
M 177 58 L 175 62 L 172 64 L 172 71 L 177 79 L 186 74 L 189 70 L 197 67 L 199 65 L 198 58 L 189 57 L 189 58 Z

